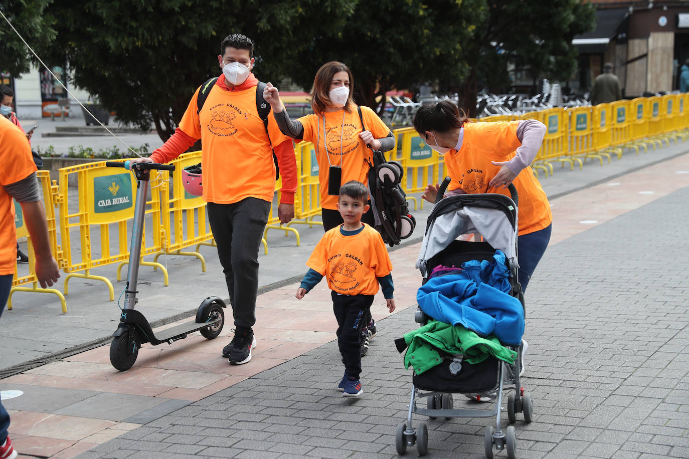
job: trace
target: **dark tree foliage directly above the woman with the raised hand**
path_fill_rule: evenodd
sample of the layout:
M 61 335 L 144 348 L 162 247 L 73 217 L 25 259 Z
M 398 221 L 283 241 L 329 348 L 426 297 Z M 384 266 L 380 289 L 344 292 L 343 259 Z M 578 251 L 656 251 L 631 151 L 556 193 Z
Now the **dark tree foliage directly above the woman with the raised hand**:
M 356 101 L 380 111 L 387 91 L 462 78 L 471 64 L 463 58 L 466 46 L 487 12 L 483 0 L 359 1 L 342 32 L 313 36 L 285 68 L 309 89 L 321 65 L 345 63 Z

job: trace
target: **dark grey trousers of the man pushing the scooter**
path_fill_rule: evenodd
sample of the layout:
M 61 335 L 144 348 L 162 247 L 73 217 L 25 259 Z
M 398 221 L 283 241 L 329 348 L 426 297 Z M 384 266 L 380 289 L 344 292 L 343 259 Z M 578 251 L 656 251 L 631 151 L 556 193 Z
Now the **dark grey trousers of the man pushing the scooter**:
M 256 323 L 258 248 L 268 222 L 270 202 L 245 198 L 234 204 L 209 202 L 207 209 L 225 273 L 234 326 L 238 332 L 250 332 Z

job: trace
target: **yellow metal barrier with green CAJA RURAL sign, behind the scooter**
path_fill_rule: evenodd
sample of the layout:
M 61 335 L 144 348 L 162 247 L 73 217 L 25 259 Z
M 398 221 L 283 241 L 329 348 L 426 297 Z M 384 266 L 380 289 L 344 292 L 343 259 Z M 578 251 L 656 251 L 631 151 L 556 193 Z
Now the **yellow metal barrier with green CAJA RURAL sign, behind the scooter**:
M 70 191 L 68 187 L 70 175 L 76 175 L 76 193 L 79 197 L 79 209 L 74 211 L 70 207 Z M 149 209 L 146 214 L 151 216 L 152 231 L 147 240 L 146 223 L 142 228 L 144 238 L 141 242 L 142 266 L 157 266 L 163 271 L 165 285 L 168 283 L 167 270 L 159 263 L 143 261 L 145 255 L 153 255 L 161 250 L 161 209 L 160 200 L 156 188 L 162 186 L 162 174 L 151 180 L 152 199 L 147 201 Z M 134 204 L 136 200 L 136 178 L 131 171 L 114 171 L 105 167 L 105 161 L 90 162 L 74 167 L 60 169 L 60 235 L 64 253 L 65 295 L 68 295 L 68 281 L 72 277 L 103 281 L 110 290 L 110 301 L 114 301 L 114 290 L 110 280 L 103 276 L 91 275 L 90 269 L 96 266 L 104 266 L 120 262 L 119 270 L 123 264 L 128 263 L 129 244 L 127 221 L 134 217 Z M 111 237 L 110 224 L 116 224 L 116 235 Z M 72 252 L 72 231 L 78 231 L 80 237 L 81 260 L 76 260 L 77 255 Z M 92 235 L 98 232 L 100 250 L 92 244 Z M 116 248 L 112 250 L 111 239 Z M 84 271 L 79 273 L 78 271 Z

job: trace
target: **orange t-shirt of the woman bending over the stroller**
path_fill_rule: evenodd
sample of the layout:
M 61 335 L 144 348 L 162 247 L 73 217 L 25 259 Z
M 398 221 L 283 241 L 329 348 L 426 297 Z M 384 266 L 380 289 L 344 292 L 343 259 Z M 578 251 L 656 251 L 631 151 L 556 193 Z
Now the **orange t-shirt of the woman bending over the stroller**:
M 453 149 L 445 153 L 448 175 L 452 178 L 448 189 L 488 193 L 489 182 L 500 171 L 500 166 L 493 166 L 491 161 L 511 160 L 517 147 L 522 145 L 517 138 L 518 125 L 518 121 L 465 122 L 462 147 L 459 151 Z M 519 234 L 533 233 L 551 224 L 551 206 L 531 167 L 523 169 L 513 184 L 519 193 Z M 502 187 L 490 192 L 510 195 Z

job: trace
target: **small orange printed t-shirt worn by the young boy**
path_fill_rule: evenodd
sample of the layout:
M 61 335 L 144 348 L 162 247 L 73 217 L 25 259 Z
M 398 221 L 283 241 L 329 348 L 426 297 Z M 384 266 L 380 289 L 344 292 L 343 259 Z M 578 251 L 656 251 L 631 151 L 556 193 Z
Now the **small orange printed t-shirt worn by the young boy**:
M 376 295 L 378 277 L 392 270 L 380 233 L 364 223 L 361 233 L 345 236 L 340 226 L 321 237 L 306 266 L 328 279 L 328 287 L 342 295 Z

